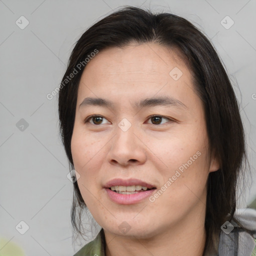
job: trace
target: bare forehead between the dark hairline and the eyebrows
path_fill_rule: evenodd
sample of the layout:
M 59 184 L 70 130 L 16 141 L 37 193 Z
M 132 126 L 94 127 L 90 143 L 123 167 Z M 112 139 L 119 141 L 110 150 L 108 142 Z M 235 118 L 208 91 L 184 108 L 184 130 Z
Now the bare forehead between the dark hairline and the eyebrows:
M 192 75 L 177 53 L 154 43 L 99 51 L 84 68 L 77 101 L 85 96 L 135 98 L 153 94 L 172 94 L 182 101 L 184 95 L 194 92 Z

